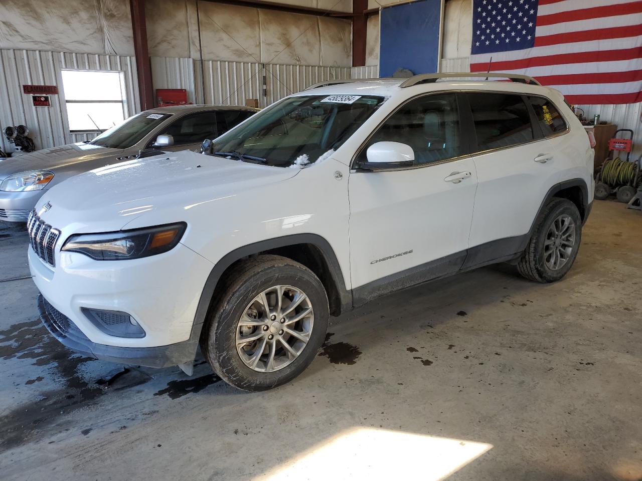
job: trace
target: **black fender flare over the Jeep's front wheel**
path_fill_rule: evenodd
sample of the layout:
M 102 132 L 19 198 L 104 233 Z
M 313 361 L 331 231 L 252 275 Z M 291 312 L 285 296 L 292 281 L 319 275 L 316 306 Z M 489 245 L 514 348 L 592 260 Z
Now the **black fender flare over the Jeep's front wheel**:
M 345 311 L 352 308 L 352 293 L 345 289 L 341 266 L 330 243 L 326 241 L 324 237 L 317 234 L 301 233 L 285 235 L 283 237 L 254 242 L 253 244 L 248 244 L 247 246 L 234 249 L 221 257 L 221 259 L 214 264 L 212 271 L 209 273 L 209 276 L 207 276 L 203 291 L 201 292 L 198 300 L 190 339 L 198 340 L 200 338 L 200 333 L 205 323 L 205 319 L 207 319 L 209 307 L 214 296 L 214 290 L 216 289 L 216 285 L 218 285 L 221 275 L 225 272 L 225 269 L 234 264 L 234 262 L 250 255 L 272 249 L 293 246 L 295 244 L 312 244 L 319 249 L 325 260 L 325 264 L 328 266 L 329 274 L 336 286 L 336 290 L 338 291 L 341 310 Z

